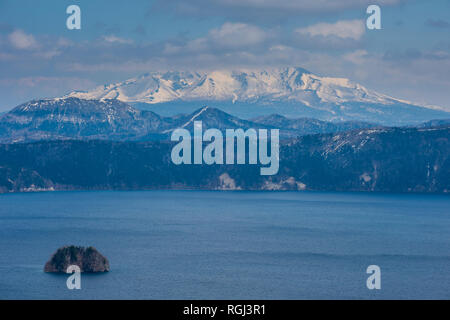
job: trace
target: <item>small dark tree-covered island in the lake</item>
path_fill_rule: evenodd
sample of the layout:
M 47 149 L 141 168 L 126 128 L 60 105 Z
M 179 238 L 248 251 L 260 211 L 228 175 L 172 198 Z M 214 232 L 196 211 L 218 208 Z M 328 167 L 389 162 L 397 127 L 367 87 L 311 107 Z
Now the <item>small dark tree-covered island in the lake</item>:
M 71 265 L 77 265 L 85 273 L 109 271 L 108 259 L 94 247 L 64 246 L 45 264 L 44 272 L 66 273 Z

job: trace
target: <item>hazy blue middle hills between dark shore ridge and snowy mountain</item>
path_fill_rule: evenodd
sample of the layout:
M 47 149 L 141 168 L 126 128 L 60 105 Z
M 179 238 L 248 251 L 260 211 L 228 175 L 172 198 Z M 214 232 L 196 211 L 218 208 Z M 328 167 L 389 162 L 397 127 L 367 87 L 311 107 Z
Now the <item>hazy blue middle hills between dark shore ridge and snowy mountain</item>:
M 205 128 L 220 130 L 280 129 L 282 139 L 376 126 L 357 121 L 288 119 L 281 115 L 243 120 L 207 106 L 191 114 L 162 117 L 118 100 L 64 98 L 31 101 L 0 116 L 0 143 L 64 139 L 168 140 L 176 128 L 192 131 L 194 121 L 202 121 Z

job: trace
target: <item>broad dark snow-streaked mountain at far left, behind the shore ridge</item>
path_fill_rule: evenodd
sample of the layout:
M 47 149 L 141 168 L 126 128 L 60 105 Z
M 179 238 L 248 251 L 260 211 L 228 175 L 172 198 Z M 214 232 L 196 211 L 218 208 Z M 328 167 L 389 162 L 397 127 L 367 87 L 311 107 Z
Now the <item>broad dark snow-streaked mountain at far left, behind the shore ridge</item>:
M 0 141 L 135 139 L 162 125 L 157 114 L 118 100 L 34 100 L 0 117 Z

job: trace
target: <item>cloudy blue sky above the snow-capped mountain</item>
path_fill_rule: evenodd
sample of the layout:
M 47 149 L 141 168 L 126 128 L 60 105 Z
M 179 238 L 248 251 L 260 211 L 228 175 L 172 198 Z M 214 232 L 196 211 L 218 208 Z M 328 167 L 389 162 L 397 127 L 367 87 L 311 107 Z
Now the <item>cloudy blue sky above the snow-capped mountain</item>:
M 450 111 L 450 0 L 0 0 L 0 112 L 152 71 L 294 66 Z

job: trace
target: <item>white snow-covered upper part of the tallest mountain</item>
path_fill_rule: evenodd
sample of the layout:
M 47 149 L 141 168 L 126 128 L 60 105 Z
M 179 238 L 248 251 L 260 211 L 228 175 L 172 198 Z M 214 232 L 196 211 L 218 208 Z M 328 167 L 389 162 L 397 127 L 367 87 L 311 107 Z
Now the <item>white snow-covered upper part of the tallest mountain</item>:
M 296 101 L 305 105 L 343 102 L 398 102 L 369 92 L 343 78 L 316 76 L 301 68 L 269 71 L 238 70 L 206 72 L 147 73 L 124 82 L 100 86 L 68 96 L 82 99 L 118 99 L 124 102 L 162 103 L 173 100 L 278 102 Z

